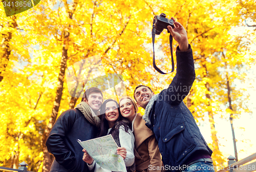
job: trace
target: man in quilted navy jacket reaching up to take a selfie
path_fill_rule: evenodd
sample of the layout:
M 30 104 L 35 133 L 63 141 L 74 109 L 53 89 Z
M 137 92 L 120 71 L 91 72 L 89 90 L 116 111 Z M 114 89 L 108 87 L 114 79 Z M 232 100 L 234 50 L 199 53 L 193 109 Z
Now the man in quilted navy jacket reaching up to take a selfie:
M 168 26 L 178 42 L 177 73 L 167 89 L 159 94 L 144 85 L 134 90 L 137 105 L 145 109 L 143 119 L 158 140 L 166 170 L 214 171 L 212 151 L 204 140 L 192 113 L 183 103 L 195 80 L 195 67 L 191 46 L 184 27 L 172 17 L 175 28 Z

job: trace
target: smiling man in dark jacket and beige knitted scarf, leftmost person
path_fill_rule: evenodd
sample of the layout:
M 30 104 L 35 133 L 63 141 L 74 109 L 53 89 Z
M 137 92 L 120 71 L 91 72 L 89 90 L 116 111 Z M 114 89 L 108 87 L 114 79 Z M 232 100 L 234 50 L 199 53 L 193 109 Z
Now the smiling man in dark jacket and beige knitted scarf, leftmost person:
M 97 115 L 102 102 L 102 92 L 92 87 L 84 92 L 81 103 L 75 109 L 61 113 L 46 141 L 48 151 L 54 156 L 50 171 L 89 171 L 82 160 L 82 147 L 77 139 L 85 141 L 95 138 L 100 127 Z

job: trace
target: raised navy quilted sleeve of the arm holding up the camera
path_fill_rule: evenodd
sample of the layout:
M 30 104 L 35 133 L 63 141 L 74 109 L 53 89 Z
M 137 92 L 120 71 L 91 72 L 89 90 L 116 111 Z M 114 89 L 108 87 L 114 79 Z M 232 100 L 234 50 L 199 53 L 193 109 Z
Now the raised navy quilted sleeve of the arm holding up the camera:
M 172 83 L 167 89 L 164 89 L 158 96 L 159 101 L 165 101 L 170 105 L 179 105 L 185 96 L 189 93 L 190 88 L 196 78 L 193 52 L 189 45 L 189 50 L 181 52 L 179 46 L 176 51 L 177 73 Z

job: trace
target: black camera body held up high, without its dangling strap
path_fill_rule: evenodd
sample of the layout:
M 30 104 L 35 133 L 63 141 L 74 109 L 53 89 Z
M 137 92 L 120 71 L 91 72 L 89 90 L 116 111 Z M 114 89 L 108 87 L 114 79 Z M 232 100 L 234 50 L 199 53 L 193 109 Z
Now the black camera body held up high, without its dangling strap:
M 174 20 L 166 18 L 166 14 L 164 13 L 161 13 L 160 16 L 156 15 L 153 23 L 155 23 L 156 35 L 160 35 L 163 29 L 167 29 L 167 26 L 174 28 Z M 168 29 L 167 32 L 169 33 Z

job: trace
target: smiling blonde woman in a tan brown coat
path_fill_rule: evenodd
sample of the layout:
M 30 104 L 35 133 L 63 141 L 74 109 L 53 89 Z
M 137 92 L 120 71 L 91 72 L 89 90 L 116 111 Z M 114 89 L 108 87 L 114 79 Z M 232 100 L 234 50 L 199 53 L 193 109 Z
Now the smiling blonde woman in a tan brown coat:
M 163 171 L 158 142 L 154 133 L 145 126 L 141 114 L 137 113 L 136 102 L 126 96 L 120 99 L 119 107 L 121 115 L 132 122 L 136 171 Z

